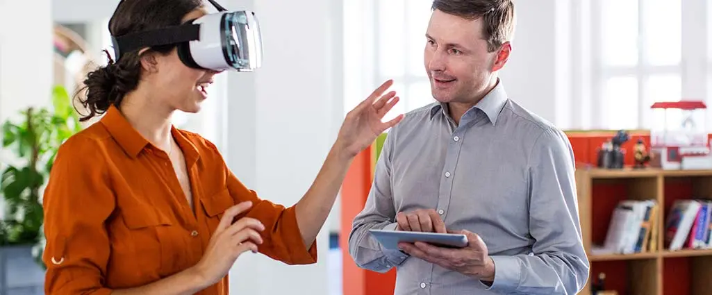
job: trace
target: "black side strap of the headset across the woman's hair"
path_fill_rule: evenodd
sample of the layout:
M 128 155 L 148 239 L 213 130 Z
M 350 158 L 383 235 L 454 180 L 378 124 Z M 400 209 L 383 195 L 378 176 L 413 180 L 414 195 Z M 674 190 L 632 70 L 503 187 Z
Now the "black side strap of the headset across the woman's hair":
M 130 33 L 124 36 L 112 37 L 115 58 L 118 60 L 123 53 L 141 48 L 176 44 L 194 41 L 200 38 L 200 25 L 185 23 L 180 26 L 157 28 L 150 31 Z

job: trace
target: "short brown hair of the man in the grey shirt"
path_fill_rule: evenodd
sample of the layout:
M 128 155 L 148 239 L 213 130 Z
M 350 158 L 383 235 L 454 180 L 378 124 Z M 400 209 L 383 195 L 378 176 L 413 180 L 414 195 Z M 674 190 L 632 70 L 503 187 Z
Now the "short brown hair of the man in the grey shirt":
M 514 35 L 512 0 L 434 0 L 431 8 L 469 20 L 482 17 L 482 36 L 487 41 L 489 52 L 511 41 Z

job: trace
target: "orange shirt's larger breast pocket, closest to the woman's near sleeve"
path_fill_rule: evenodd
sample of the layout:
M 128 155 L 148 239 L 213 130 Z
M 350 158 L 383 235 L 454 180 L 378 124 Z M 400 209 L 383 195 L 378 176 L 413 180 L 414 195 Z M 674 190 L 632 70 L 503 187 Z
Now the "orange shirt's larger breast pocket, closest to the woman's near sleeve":
M 117 241 L 112 252 L 120 263 L 137 264 L 132 272 L 145 272 L 143 277 L 164 276 L 172 272 L 186 245 L 171 235 L 173 222 L 151 206 L 122 210 L 127 239 Z

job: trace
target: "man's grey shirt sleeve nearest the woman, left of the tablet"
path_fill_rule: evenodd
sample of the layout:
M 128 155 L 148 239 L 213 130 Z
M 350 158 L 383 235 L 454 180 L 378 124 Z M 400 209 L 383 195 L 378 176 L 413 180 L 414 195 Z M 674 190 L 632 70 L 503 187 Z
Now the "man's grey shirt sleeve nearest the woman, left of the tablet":
M 397 226 L 391 191 L 393 134 L 390 132 L 384 141 L 366 204 L 355 216 L 349 235 L 349 253 L 356 265 L 382 273 L 399 266 L 409 257 L 399 250 L 384 249 L 369 232 L 371 229 L 395 230 Z

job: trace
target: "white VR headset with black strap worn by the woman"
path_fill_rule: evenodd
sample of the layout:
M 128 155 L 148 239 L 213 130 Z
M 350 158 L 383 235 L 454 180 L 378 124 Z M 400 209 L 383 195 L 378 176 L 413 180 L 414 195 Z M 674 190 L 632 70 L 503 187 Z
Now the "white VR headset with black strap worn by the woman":
M 252 72 L 262 63 L 262 36 L 252 11 L 219 12 L 179 26 L 112 36 L 115 60 L 124 53 L 157 45 L 177 45 L 180 60 L 190 68 Z

